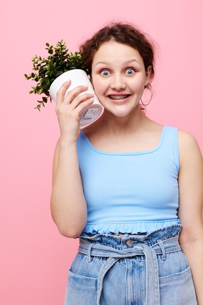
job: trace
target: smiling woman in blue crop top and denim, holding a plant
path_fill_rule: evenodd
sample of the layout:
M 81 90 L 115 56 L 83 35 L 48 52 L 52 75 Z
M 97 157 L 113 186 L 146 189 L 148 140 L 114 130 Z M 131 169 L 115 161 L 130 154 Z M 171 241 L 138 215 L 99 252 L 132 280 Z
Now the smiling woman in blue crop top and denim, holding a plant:
M 155 44 L 114 22 L 80 50 L 104 113 L 81 130 L 87 87 L 64 98 L 69 81 L 57 93 L 51 211 L 80 242 L 64 305 L 201 305 L 203 159 L 190 133 L 140 106 L 145 89 L 152 96 Z

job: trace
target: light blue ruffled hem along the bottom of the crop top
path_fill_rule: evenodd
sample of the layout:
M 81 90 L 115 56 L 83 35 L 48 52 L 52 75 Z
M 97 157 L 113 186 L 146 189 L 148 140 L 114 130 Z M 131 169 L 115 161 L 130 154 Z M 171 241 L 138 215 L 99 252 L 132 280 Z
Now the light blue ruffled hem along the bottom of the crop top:
M 181 224 L 180 220 L 173 219 L 168 221 L 157 221 L 157 222 L 136 222 L 136 223 L 121 223 L 121 224 L 112 224 L 112 223 L 102 223 L 102 224 L 87 224 L 82 233 L 88 234 L 116 234 L 119 232 L 125 234 L 140 234 L 148 233 L 152 230 L 161 229 L 175 224 Z

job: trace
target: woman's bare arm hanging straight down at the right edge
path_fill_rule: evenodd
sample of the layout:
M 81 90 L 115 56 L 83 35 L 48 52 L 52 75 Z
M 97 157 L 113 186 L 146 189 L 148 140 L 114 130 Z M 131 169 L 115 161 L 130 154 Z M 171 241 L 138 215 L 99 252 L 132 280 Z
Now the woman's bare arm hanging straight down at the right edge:
M 178 131 L 179 243 L 191 269 L 198 305 L 203 305 L 203 157 L 196 139 Z

